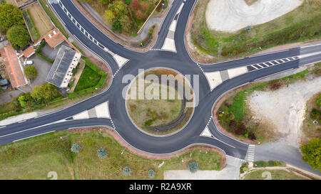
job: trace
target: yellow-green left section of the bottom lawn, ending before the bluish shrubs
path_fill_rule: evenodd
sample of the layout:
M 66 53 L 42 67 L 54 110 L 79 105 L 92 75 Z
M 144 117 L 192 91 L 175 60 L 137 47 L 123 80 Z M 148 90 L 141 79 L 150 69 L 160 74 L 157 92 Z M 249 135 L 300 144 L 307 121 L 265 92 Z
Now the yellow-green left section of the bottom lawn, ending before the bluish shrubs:
M 47 134 L 0 147 L 0 179 L 46 179 L 56 171 L 59 179 L 71 179 L 70 141 Z

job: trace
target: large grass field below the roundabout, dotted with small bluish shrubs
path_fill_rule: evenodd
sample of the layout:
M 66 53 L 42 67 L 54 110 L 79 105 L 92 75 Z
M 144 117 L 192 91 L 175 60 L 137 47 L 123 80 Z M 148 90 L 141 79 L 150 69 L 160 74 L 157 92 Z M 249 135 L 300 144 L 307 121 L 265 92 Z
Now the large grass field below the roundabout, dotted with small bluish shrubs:
M 68 136 L 67 136 L 68 135 Z M 65 136 L 62 140 L 60 136 Z M 71 152 L 71 145 L 81 146 L 79 153 Z M 96 151 L 103 146 L 108 156 L 98 158 Z M 49 171 L 56 171 L 58 179 L 148 179 L 153 168 L 155 179 L 163 179 L 165 170 L 187 169 L 188 161 L 198 161 L 200 170 L 220 170 L 222 158 L 213 151 L 195 149 L 170 160 L 151 160 L 136 156 L 106 132 L 71 134 L 58 131 L 0 146 L 0 179 L 46 179 Z M 192 153 L 190 155 L 190 153 Z M 182 162 L 183 158 L 183 162 Z M 161 168 L 158 165 L 165 162 Z M 131 168 L 131 176 L 124 176 L 124 166 Z

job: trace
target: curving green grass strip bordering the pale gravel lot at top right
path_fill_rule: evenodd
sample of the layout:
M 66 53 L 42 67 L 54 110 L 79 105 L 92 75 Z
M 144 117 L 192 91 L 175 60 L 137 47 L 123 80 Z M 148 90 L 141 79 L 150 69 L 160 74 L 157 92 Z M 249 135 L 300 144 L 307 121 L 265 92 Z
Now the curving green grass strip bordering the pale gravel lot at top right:
M 209 0 L 198 1 L 195 6 L 191 38 L 202 53 L 218 56 L 213 61 L 256 53 L 276 45 L 308 41 L 321 38 L 321 2 L 304 1 L 297 9 L 267 23 L 245 28 L 235 33 L 211 31 L 205 22 L 205 11 Z M 247 1 L 252 4 L 253 1 Z

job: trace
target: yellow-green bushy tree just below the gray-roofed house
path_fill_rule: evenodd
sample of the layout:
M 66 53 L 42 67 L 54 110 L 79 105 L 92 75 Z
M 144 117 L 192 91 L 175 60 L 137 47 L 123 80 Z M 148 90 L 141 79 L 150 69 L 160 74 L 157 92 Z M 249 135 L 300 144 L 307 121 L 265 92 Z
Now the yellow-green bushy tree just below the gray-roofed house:
M 49 83 L 44 83 L 44 85 L 34 87 L 31 92 L 31 97 L 33 97 L 38 102 L 50 102 L 52 99 L 59 97 L 60 93 L 57 87 Z

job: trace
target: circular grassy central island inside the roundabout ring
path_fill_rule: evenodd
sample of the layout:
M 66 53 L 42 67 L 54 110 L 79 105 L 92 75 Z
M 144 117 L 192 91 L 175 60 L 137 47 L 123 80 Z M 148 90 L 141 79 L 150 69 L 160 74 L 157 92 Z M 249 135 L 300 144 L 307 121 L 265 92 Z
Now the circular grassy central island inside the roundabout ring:
M 170 68 L 138 74 L 126 92 L 126 112 L 137 129 L 151 136 L 182 130 L 193 116 L 195 95 L 190 82 Z

